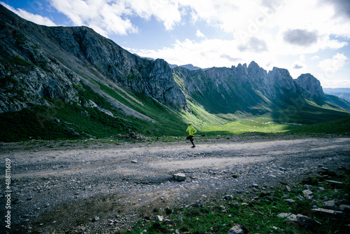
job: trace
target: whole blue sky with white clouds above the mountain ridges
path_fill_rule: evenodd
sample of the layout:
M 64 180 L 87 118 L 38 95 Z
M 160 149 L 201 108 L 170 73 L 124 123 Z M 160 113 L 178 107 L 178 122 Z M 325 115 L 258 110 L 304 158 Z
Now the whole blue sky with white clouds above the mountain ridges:
M 349 0 L 0 0 L 31 22 L 87 26 L 169 64 L 309 73 L 350 88 Z

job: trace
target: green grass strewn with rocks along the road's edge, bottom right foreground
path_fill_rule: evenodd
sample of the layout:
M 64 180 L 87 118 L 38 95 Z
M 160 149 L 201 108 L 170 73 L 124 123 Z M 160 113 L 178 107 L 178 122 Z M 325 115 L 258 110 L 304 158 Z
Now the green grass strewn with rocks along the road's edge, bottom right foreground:
M 340 200 L 344 198 L 344 194 L 350 192 L 349 171 L 334 174 L 331 179 L 343 181 L 345 184 L 335 188 L 323 181 L 321 177 L 311 179 L 318 181 L 317 185 L 311 188 L 316 200 L 314 203 L 297 198 L 301 191 L 306 189 L 302 182 L 297 184 L 291 192 L 283 191 L 281 187 L 273 191 L 261 190 L 235 194 L 232 200 L 225 200 L 222 197 L 207 198 L 202 200 L 204 204 L 200 207 L 172 207 L 158 214 L 172 220 L 172 226 L 159 221 L 151 221 L 151 223 L 139 221 L 133 230 L 127 233 L 141 233 L 143 230 L 147 230 L 146 233 L 174 233 L 176 229 L 188 233 L 228 233 L 230 228 L 239 224 L 249 233 L 345 234 L 348 231 L 345 225 L 350 222 L 349 216 L 335 219 L 334 216 L 324 216 L 311 211 L 313 205 L 323 207 L 325 196 L 330 200 Z M 324 188 L 324 191 L 319 190 L 318 187 Z M 295 202 L 286 202 L 286 198 Z M 295 221 L 285 221 L 286 218 L 278 217 L 280 213 L 302 214 L 323 225 L 305 228 Z

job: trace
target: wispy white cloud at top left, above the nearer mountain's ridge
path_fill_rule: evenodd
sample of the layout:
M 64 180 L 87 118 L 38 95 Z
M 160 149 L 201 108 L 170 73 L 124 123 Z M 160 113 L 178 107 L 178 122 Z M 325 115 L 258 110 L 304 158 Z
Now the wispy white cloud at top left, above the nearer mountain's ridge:
M 66 15 L 73 25 L 92 27 L 100 34 L 127 35 L 139 32 L 130 18 L 154 17 L 172 30 L 180 22 L 179 4 L 171 0 L 50 0 L 57 11 Z

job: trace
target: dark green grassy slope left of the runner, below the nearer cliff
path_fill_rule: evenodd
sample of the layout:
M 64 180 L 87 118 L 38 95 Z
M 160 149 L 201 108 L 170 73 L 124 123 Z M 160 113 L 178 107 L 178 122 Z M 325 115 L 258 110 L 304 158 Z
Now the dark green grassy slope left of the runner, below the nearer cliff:
M 187 117 L 197 118 L 187 114 L 176 113 L 160 104 L 151 97 L 143 94 L 132 94 L 144 105 L 127 97 L 120 90 L 106 87 L 100 84 L 106 93 L 119 102 L 130 106 L 132 109 L 145 114 L 157 122 L 125 116 L 119 110 L 113 108 L 106 99 L 93 92 L 87 85 L 77 88 L 80 102 L 83 104 L 92 100 L 103 109 L 111 111 L 116 117 L 112 117 L 99 111 L 99 109 L 66 104 L 60 99 L 48 100 L 55 107 L 36 106 L 34 109 L 25 109 L 18 112 L 0 114 L 0 141 L 18 142 L 26 139 L 76 139 L 86 137 L 111 137 L 112 135 L 125 135 L 130 132 L 139 132 L 146 136 L 181 136 L 186 135 Z M 122 97 L 124 96 L 124 97 Z

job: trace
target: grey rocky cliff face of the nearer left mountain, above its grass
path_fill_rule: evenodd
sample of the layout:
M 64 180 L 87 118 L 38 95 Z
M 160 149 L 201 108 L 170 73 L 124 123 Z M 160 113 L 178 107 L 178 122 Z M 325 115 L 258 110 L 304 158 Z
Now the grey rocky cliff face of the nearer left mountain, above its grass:
M 52 106 L 47 99 L 78 103 L 80 81 L 101 78 L 186 108 L 167 62 L 141 59 L 90 28 L 35 25 L 0 6 L 0 39 L 0 113 Z

